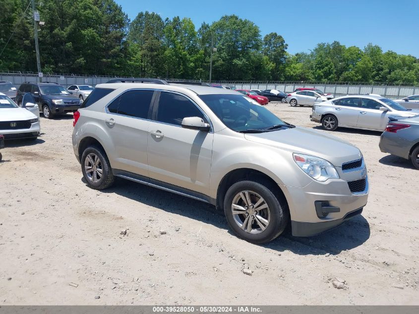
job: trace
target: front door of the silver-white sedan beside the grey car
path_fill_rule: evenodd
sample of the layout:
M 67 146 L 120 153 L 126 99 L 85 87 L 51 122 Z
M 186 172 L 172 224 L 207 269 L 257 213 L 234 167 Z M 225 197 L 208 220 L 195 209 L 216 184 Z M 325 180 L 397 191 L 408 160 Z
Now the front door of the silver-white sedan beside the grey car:
M 361 98 L 359 110 L 358 127 L 373 130 L 383 130 L 388 123 L 388 117 L 392 114 L 389 111 L 380 111 L 380 107 L 386 107 L 373 99 Z M 393 114 L 394 115 L 394 114 Z

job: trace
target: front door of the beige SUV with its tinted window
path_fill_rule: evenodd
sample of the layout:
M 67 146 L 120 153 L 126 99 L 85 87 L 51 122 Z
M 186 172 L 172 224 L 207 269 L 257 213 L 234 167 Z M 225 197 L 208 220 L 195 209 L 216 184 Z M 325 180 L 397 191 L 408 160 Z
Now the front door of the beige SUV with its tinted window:
M 150 178 L 208 195 L 214 133 L 181 127 L 186 117 L 207 120 L 185 96 L 160 93 L 155 121 L 149 125 Z

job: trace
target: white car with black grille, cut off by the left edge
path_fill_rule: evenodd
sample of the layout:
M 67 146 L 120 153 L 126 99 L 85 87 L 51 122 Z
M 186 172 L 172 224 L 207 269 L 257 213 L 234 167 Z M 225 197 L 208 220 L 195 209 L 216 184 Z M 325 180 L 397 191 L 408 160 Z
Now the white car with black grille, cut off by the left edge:
M 38 105 L 24 101 L 23 107 L 19 107 L 9 97 L 0 93 L 0 134 L 4 139 L 36 139 L 39 136 L 41 126 Z

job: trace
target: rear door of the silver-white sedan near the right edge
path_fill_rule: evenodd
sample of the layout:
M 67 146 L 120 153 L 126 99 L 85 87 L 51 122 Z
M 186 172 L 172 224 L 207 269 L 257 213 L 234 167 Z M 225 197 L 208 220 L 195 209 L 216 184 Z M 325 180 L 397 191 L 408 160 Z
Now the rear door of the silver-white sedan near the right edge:
M 333 114 L 338 118 L 339 126 L 357 126 L 359 101 L 358 97 L 346 97 L 332 101 Z

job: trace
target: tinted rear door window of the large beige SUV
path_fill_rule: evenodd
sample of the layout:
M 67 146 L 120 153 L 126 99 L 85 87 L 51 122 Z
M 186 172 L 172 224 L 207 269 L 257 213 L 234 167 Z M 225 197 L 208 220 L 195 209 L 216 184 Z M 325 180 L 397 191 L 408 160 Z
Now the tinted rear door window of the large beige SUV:
M 130 90 L 122 94 L 120 96 L 118 114 L 147 119 L 153 94 L 154 91 L 152 90 Z M 110 106 L 112 106 L 113 103 Z

